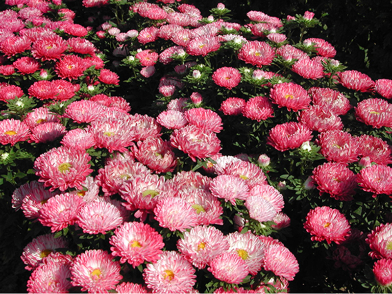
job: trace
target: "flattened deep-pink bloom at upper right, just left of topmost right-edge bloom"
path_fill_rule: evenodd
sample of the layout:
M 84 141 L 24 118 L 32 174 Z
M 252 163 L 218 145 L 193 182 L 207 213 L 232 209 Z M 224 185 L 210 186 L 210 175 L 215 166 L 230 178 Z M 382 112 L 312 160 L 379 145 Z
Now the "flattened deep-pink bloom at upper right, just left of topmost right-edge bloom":
M 344 71 L 339 73 L 340 83 L 347 89 L 361 92 L 371 92 L 374 87 L 374 81 L 365 73 L 358 71 Z

